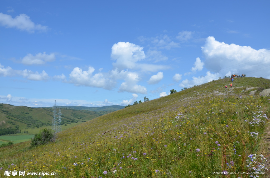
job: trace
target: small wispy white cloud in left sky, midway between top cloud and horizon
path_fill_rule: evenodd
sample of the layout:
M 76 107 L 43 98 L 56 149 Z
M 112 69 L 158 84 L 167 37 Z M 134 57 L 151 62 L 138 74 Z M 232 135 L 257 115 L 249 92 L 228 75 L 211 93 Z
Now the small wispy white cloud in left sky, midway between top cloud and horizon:
M 42 65 L 46 62 L 51 62 L 55 60 L 55 54 L 46 54 L 46 52 L 38 53 L 35 56 L 32 54 L 27 54 L 25 57 L 22 58 L 21 63 L 25 65 Z

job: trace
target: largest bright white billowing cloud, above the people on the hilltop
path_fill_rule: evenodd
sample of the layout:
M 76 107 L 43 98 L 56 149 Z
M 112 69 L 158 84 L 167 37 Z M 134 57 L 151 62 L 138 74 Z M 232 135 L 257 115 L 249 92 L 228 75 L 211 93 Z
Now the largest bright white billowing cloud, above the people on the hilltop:
M 270 50 L 253 49 L 249 46 L 218 42 L 208 37 L 202 48 L 205 56 L 205 67 L 210 72 L 219 72 L 221 76 L 231 72 L 247 76 L 268 77 Z

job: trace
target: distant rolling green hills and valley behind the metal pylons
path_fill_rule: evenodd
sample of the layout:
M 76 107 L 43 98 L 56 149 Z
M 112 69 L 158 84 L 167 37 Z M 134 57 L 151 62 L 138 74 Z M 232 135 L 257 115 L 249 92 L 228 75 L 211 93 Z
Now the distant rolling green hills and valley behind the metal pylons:
M 76 106 L 74 106 L 76 108 Z M 61 108 L 61 107 L 58 107 Z M 91 111 L 88 107 L 61 108 L 62 130 L 86 122 L 98 116 L 113 112 L 122 107 L 98 107 Z M 112 109 L 112 110 L 109 110 Z M 93 109 L 92 109 L 93 110 Z M 13 106 L 0 104 L 0 145 L 13 141 L 19 143 L 29 140 L 42 128 L 51 128 L 52 108 L 30 108 L 26 106 Z M 58 110 L 57 110 L 58 111 Z M 5 138 L 5 136 L 8 136 Z

